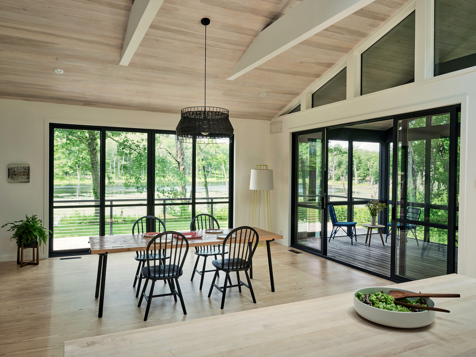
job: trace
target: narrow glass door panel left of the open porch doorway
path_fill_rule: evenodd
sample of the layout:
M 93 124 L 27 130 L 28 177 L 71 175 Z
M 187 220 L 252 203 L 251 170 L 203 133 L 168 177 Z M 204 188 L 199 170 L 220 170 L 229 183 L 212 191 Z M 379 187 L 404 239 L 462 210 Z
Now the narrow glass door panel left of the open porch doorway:
M 326 183 L 324 131 L 315 131 L 294 137 L 293 149 L 297 159 L 293 186 L 295 202 L 294 230 L 296 244 L 305 249 L 322 252 L 326 237 L 324 205 Z

